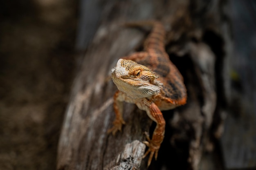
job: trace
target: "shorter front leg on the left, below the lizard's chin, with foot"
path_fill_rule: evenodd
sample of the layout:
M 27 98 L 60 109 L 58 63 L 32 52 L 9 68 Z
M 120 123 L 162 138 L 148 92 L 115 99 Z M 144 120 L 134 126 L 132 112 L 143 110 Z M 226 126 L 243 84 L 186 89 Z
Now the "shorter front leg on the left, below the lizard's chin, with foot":
M 113 127 L 108 130 L 108 133 L 112 132 L 112 135 L 115 135 L 117 130 L 122 131 L 122 125 L 125 124 L 123 119 L 123 101 L 124 93 L 117 91 L 114 95 L 114 111 L 116 118 L 113 121 Z

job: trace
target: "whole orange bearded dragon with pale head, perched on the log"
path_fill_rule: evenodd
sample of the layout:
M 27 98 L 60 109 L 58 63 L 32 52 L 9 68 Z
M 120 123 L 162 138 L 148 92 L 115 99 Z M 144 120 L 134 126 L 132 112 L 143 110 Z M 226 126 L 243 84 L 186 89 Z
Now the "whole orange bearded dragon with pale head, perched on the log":
M 108 130 L 113 135 L 122 128 L 123 102 L 134 103 L 145 110 L 148 117 L 157 123 L 152 139 L 146 135 L 148 166 L 164 139 L 165 120 L 160 110 L 170 110 L 186 104 L 186 88 L 183 77 L 165 52 L 165 30 L 160 22 L 133 22 L 127 26 L 153 26 L 144 43 L 144 52 L 134 53 L 119 59 L 113 69 L 112 79 L 118 91 L 114 95 L 116 119 Z

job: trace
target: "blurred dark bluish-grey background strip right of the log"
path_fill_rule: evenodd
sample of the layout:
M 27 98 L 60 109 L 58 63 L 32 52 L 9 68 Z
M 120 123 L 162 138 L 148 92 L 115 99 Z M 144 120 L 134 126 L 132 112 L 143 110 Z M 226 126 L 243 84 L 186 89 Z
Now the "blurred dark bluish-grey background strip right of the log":
M 230 4 L 234 52 L 231 104 L 221 138 L 223 158 L 227 169 L 256 168 L 256 2 Z

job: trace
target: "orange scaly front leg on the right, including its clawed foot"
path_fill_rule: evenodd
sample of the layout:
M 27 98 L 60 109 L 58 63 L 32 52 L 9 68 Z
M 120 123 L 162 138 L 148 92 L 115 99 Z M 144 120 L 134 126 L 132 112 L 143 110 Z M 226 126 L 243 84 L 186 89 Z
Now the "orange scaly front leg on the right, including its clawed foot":
M 148 150 L 144 154 L 143 158 L 145 158 L 150 153 L 148 158 L 149 166 L 154 154 L 155 159 L 157 159 L 158 150 L 164 139 L 165 120 L 162 115 L 162 112 L 159 110 L 159 108 L 154 102 L 146 98 L 143 98 L 139 100 L 139 102 L 137 102 L 136 105 L 138 106 L 139 109 L 145 110 L 148 117 L 150 117 L 150 119 L 157 123 L 157 126 L 153 132 L 152 139 L 150 139 L 149 136 L 146 135 L 148 141 L 143 142 L 144 144 L 146 144 L 146 146 L 148 146 Z

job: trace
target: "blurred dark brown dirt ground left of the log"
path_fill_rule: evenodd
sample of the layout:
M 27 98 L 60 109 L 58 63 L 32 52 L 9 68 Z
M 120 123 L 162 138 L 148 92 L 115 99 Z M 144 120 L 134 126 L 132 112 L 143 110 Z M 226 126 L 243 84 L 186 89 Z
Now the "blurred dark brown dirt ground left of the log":
M 0 170 L 53 170 L 72 85 L 76 1 L 0 2 Z

